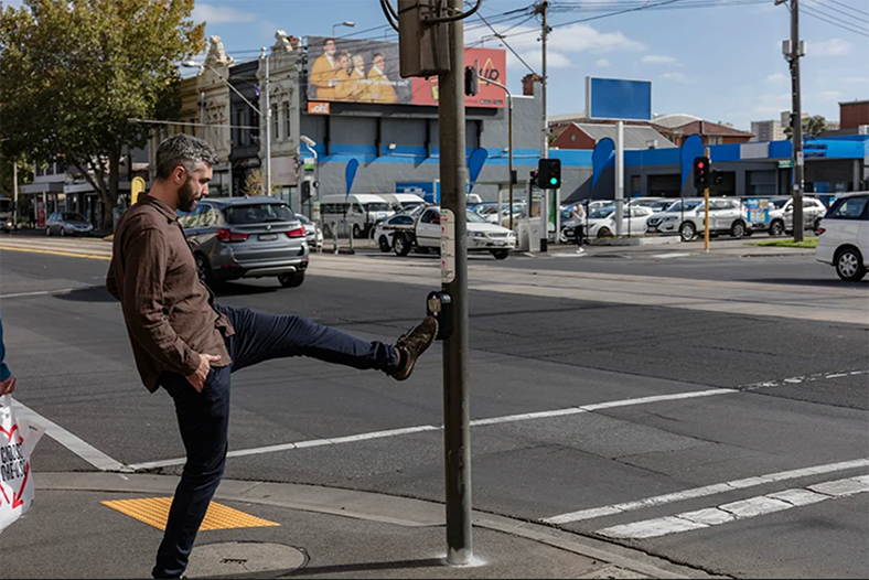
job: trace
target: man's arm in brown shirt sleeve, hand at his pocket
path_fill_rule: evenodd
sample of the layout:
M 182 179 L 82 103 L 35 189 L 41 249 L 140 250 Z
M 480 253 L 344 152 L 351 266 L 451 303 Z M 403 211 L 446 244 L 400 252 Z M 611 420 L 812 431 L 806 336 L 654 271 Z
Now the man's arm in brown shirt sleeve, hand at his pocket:
M 169 264 L 165 236 L 157 228 L 146 228 L 124 247 L 124 318 L 133 339 L 157 361 L 183 376 L 200 367 L 200 354 L 191 348 L 163 313 L 163 283 Z

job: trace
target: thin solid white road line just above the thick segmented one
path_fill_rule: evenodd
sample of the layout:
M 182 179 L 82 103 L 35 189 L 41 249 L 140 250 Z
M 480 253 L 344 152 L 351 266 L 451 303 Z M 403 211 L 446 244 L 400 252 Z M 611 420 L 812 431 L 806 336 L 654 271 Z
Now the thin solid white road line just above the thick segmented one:
M 702 487 L 694 487 L 693 490 L 685 490 L 682 492 L 656 495 L 654 497 L 646 497 L 645 500 L 637 500 L 635 502 L 625 502 L 622 504 L 612 504 L 602 507 L 592 507 L 590 509 L 580 509 L 578 512 L 570 512 L 569 514 L 561 514 L 558 516 L 547 517 L 541 522 L 544 522 L 545 524 L 568 524 L 571 522 L 581 522 L 584 519 L 593 519 L 596 517 L 611 516 L 615 514 L 622 514 L 624 512 L 632 512 L 634 509 L 642 509 L 645 507 L 653 507 L 658 505 L 670 504 L 674 502 L 683 502 L 685 500 L 695 500 L 697 497 L 717 495 L 719 493 L 732 492 L 734 490 L 744 490 L 747 487 L 765 485 L 768 483 L 795 480 L 798 477 L 807 477 L 809 475 L 820 475 L 825 473 L 833 473 L 836 471 L 845 471 L 845 470 L 866 468 L 866 466 L 869 466 L 869 459 L 858 459 L 854 461 L 844 461 L 839 463 L 828 463 L 826 465 L 815 465 L 813 468 L 802 468 L 798 470 L 780 471 L 777 473 L 768 473 L 766 475 L 758 475 L 755 477 L 733 480 L 725 483 L 705 485 Z

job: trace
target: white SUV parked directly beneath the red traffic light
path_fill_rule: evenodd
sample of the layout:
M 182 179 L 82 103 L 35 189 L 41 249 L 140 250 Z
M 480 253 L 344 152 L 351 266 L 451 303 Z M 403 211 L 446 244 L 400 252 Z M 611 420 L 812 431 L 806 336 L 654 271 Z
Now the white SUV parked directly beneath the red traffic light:
M 679 234 L 683 241 L 690 241 L 706 228 L 706 204 L 702 197 L 680 200 L 666 212 L 651 216 L 646 226 L 650 232 Z M 709 234 L 730 234 L 741 238 L 750 232 L 748 211 L 738 200 L 709 200 Z

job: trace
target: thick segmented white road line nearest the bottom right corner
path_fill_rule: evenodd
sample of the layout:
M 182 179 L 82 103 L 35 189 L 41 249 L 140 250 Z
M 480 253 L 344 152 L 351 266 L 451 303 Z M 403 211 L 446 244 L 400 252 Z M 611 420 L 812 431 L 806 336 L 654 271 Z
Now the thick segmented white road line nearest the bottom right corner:
M 869 475 L 859 475 L 847 480 L 809 485 L 808 487 L 797 487 L 768 495 L 758 495 L 739 502 L 721 504 L 717 507 L 684 512 L 675 516 L 657 517 L 621 526 L 612 526 L 599 529 L 596 534 L 608 538 L 620 539 L 657 538 L 669 534 L 705 529 L 729 522 L 764 516 L 784 509 L 792 509 L 794 507 L 817 504 L 819 502 L 826 502 L 827 500 L 848 497 L 850 495 L 867 492 L 869 492 Z

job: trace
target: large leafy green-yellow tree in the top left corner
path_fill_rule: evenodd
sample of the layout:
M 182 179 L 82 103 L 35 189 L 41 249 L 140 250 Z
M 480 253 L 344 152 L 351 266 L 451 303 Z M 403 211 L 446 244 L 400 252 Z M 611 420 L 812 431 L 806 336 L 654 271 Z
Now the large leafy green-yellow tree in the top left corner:
M 110 227 L 125 148 L 180 109 L 176 63 L 202 51 L 194 0 L 24 0 L 0 13 L 7 157 L 57 160 L 99 193 Z

